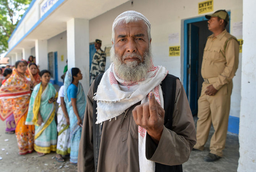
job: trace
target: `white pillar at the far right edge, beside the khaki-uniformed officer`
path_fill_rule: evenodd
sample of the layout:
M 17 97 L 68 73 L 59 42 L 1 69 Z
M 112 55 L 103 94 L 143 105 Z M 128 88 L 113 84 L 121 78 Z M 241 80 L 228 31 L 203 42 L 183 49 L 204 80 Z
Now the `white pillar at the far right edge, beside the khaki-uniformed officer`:
M 255 0 L 243 0 L 243 54 L 241 75 L 241 104 L 239 126 L 238 172 L 256 169 L 256 15 Z

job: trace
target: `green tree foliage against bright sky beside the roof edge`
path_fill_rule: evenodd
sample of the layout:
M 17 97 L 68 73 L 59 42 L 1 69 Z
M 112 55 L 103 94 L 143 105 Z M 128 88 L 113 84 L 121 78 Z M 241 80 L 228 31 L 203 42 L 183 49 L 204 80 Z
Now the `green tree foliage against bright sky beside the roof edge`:
M 31 0 L 0 0 L 0 54 L 8 49 L 8 39 Z

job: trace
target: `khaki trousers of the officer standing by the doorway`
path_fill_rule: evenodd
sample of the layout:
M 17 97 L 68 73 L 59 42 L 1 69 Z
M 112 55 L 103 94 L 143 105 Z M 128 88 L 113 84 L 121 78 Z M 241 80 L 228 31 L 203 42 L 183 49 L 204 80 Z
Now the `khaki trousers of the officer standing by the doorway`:
M 204 150 L 212 123 L 215 131 L 211 138 L 210 153 L 222 157 L 222 150 L 225 148 L 227 137 L 230 96 L 233 83 L 231 81 L 223 85 L 214 96 L 208 96 L 205 94 L 205 91 L 206 87 L 211 84 L 203 83 L 201 96 L 198 99 L 197 143 L 194 145 L 194 148 Z

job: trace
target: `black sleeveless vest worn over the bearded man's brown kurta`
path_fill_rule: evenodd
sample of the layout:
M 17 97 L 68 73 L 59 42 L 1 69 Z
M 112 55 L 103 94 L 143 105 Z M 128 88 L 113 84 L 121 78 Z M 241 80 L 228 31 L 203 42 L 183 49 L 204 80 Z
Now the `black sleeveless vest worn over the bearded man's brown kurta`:
M 103 73 L 97 76 L 94 81 L 94 92 L 97 92 L 98 85 L 102 78 Z M 164 126 L 168 129 L 172 128 L 172 114 L 175 103 L 175 94 L 176 94 L 176 80 L 178 77 L 168 74 L 160 86 L 162 87 L 163 97 L 164 97 Z M 99 150 L 100 150 L 100 137 L 102 133 L 102 125 L 96 124 L 96 108 L 97 102 L 93 102 L 93 121 L 92 121 L 92 132 L 93 132 L 93 148 L 94 148 L 94 166 L 95 171 L 97 172 L 98 159 L 99 159 Z M 177 166 L 167 166 L 160 163 L 155 163 L 156 169 L 155 172 L 182 172 L 182 165 Z

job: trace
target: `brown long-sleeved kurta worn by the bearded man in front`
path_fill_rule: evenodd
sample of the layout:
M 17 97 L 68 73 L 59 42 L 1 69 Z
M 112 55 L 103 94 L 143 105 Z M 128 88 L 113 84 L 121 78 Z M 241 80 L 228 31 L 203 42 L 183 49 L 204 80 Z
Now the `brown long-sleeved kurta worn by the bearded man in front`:
M 92 111 L 94 82 L 88 95 L 83 131 L 78 153 L 78 171 L 94 171 Z M 136 105 L 139 105 L 140 102 Z M 98 172 L 139 171 L 138 126 L 128 108 L 117 120 L 105 121 L 100 141 Z M 172 130 L 164 127 L 158 145 L 149 135 L 146 137 L 146 157 L 151 161 L 169 166 L 182 164 L 189 158 L 196 143 L 196 131 L 185 90 L 177 80 Z

